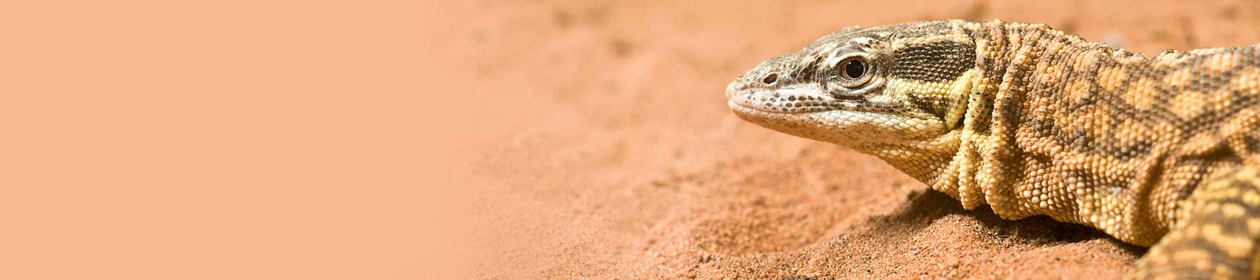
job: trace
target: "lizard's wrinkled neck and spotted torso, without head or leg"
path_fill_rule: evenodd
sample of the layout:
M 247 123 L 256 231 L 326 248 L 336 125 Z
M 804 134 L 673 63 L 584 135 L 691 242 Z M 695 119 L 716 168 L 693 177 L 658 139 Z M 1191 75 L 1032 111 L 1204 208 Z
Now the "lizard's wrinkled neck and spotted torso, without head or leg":
M 1201 107 L 1211 96 L 1241 102 L 1254 92 L 1155 90 L 1181 88 L 1205 73 L 1235 81 L 1231 68 L 1254 62 L 1231 52 L 1246 48 L 1152 59 L 1045 25 L 995 21 L 973 30 L 980 73 L 958 153 L 925 180 L 966 208 L 989 204 L 1003 218 L 1047 214 L 1149 245 L 1176 222 L 1177 202 L 1202 178 L 1249 153 L 1223 140 L 1231 136 L 1202 129 L 1249 119 Z M 1220 69 L 1183 71 L 1212 67 Z M 1237 127 L 1255 126 L 1247 124 Z

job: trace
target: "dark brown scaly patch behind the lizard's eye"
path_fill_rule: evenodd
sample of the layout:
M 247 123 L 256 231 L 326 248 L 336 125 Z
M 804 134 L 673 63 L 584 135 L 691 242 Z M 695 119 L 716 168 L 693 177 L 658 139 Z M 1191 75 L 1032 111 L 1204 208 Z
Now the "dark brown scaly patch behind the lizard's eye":
M 893 52 L 892 74 L 898 78 L 953 81 L 975 67 L 975 45 L 964 42 L 934 42 L 907 45 Z

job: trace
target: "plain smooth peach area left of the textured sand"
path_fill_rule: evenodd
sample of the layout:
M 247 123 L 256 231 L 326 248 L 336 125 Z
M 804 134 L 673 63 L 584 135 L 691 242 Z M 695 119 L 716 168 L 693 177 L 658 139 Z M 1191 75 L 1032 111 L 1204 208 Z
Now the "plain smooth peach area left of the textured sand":
M 0 5 L 0 279 L 441 279 L 460 5 Z

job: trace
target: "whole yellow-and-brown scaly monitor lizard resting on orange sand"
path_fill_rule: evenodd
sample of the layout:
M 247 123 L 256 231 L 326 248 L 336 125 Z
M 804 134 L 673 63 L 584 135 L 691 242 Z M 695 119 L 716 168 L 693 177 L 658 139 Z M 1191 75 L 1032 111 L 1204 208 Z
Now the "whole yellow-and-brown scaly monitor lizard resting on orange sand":
M 1045 24 L 852 26 L 726 96 L 746 121 L 878 156 L 964 208 L 1150 246 L 1130 277 L 1260 277 L 1260 45 L 1147 57 Z

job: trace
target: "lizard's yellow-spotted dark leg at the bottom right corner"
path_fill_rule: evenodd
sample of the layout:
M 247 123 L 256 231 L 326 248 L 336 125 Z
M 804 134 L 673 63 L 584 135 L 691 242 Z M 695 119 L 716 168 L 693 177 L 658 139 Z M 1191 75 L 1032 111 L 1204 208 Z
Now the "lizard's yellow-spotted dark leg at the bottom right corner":
M 1131 279 L 1260 279 L 1260 173 L 1221 173 L 1181 206 Z

